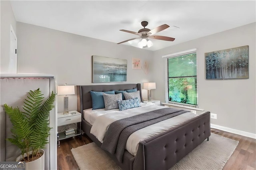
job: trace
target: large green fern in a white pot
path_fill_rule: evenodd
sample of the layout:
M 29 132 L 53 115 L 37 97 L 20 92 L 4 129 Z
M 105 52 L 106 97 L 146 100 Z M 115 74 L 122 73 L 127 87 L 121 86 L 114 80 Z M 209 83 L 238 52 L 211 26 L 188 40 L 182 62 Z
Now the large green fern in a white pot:
M 13 127 L 10 129 L 13 138 L 7 138 L 12 144 L 18 146 L 21 155 L 16 161 L 25 161 L 26 170 L 44 170 L 44 150 L 50 135 L 49 116 L 55 107 L 56 94 L 44 100 L 40 89 L 28 92 L 24 100 L 23 110 L 12 108 L 4 104 L 4 110 L 10 117 Z

